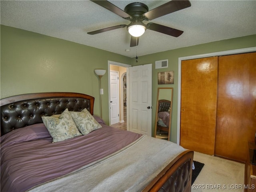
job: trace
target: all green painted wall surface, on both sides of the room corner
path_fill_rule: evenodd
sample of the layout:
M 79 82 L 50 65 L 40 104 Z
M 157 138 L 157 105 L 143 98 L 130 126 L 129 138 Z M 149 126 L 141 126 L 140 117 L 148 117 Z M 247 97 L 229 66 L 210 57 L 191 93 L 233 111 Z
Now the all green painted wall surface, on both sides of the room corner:
M 79 92 L 95 97 L 94 114 L 100 114 L 99 84 L 94 69 L 108 70 L 108 60 L 153 64 L 152 133 L 158 87 L 173 87 L 172 135 L 176 142 L 178 107 L 178 58 L 256 46 L 256 35 L 244 36 L 140 56 L 138 63 L 112 52 L 1 25 L 0 98 L 33 92 Z M 139 49 L 139 47 L 138 47 Z M 155 69 L 155 61 L 168 59 L 168 68 Z M 158 85 L 157 72 L 174 71 L 174 84 Z M 108 124 L 108 76 L 102 77 L 102 114 Z

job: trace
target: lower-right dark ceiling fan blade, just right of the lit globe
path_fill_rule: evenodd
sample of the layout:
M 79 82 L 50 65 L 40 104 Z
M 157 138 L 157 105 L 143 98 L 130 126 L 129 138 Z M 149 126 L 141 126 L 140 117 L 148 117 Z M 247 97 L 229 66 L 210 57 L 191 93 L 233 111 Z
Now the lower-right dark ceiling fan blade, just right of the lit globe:
M 181 31 L 181 30 L 170 28 L 170 27 L 156 24 L 156 23 L 148 23 L 147 29 L 157 31 L 160 33 L 164 33 L 166 35 L 170 35 L 170 36 L 174 36 L 174 37 L 178 37 L 183 33 L 183 31 Z

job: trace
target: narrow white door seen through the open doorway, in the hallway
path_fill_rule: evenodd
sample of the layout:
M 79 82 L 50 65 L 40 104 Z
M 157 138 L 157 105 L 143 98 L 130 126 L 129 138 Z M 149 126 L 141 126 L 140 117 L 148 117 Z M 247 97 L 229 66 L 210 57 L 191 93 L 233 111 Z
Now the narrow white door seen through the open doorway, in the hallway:
M 119 72 L 110 71 L 110 125 L 119 122 Z

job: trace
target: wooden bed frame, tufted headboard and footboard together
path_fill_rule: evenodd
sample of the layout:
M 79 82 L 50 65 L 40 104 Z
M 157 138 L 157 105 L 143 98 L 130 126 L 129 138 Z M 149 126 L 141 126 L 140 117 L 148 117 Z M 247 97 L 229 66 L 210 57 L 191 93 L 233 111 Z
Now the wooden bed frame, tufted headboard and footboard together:
M 1 135 L 31 124 L 42 123 L 41 116 L 81 111 L 87 108 L 93 115 L 94 97 L 70 92 L 22 94 L 1 99 Z M 146 191 L 190 192 L 194 152 L 179 154 L 144 188 Z

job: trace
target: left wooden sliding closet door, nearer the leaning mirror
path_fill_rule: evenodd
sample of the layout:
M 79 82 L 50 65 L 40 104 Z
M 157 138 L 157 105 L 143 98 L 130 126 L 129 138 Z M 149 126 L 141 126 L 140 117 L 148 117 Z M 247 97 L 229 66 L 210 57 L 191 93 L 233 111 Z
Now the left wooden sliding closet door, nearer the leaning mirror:
M 218 57 L 182 61 L 180 145 L 214 154 Z

